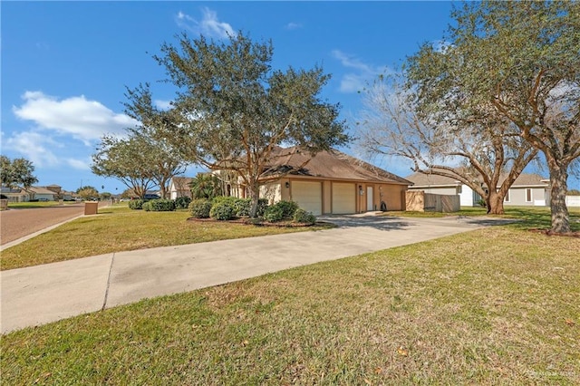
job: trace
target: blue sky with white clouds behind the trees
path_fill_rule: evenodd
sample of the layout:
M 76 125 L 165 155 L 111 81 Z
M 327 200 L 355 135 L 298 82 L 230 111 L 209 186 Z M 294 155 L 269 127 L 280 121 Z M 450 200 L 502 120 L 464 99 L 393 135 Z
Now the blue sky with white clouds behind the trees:
M 151 82 L 160 106 L 174 97 L 151 56 L 183 31 L 220 39 L 242 30 L 272 40 L 275 68 L 321 65 L 333 76 L 324 98 L 353 121 L 365 82 L 439 41 L 450 10 L 449 2 L 4 1 L 2 154 L 31 159 L 38 185 L 121 193 L 120 181 L 92 174 L 91 154 L 103 134 L 133 125 L 121 104 L 125 86 Z M 411 174 L 410 164 L 380 166 Z

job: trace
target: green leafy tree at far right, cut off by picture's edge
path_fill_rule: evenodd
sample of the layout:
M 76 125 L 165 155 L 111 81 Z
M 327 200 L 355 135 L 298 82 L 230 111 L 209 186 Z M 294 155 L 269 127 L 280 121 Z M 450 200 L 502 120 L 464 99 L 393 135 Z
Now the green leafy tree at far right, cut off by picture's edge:
M 552 231 L 570 230 L 570 165 L 580 157 L 580 3 L 466 2 L 441 47 L 408 61 L 421 113 L 439 121 L 494 111 L 543 153 L 550 171 Z M 461 131 L 458 131 L 461 135 Z

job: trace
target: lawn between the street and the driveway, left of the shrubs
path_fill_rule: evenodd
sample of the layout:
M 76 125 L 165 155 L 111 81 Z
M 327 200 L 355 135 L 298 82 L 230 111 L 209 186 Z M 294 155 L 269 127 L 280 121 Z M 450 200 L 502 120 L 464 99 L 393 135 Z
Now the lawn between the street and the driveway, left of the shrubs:
M 81 217 L 22 244 L 2 251 L 2 270 L 41 265 L 157 246 L 179 246 L 207 241 L 324 227 L 256 227 L 222 222 L 188 221 L 189 211 L 145 212 L 126 205 L 103 207 L 99 216 Z

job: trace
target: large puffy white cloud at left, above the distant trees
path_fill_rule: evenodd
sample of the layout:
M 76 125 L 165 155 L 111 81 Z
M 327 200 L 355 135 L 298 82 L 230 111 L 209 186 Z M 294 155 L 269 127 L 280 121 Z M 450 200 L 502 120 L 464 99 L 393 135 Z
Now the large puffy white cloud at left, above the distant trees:
M 38 129 L 70 135 L 91 145 L 104 134 L 120 134 L 137 121 L 125 114 L 111 111 L 99 101 L 89 101 L 84 95 L 63 100 L 43 92 L 24 92 L 24 103 L 13 106 L 14 114 L 25 121 L 34 121 Z

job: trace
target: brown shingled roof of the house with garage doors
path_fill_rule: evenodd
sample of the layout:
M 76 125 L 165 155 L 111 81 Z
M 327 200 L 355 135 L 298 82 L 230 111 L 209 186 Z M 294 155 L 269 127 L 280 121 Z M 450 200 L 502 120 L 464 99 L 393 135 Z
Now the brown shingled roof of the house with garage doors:
M 338 150 L 321 151 L 314 158 L 293 148 L 275 148 L 267 174 L 309 176 L 324 179 L 354 179 L 411 185 L 411 181 L 396 176 L 370 163 L 356 159 Z

